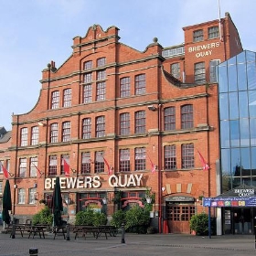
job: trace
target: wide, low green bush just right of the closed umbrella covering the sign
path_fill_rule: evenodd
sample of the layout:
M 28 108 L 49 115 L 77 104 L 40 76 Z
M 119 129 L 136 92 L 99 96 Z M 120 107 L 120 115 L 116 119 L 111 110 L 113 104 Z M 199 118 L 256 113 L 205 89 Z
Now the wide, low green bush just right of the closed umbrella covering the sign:
M 100 226 L 107 224 L 107 216 L 104 213 L 95 212 L 91 208 L 79 211 L 76 214 L 76 225 Z

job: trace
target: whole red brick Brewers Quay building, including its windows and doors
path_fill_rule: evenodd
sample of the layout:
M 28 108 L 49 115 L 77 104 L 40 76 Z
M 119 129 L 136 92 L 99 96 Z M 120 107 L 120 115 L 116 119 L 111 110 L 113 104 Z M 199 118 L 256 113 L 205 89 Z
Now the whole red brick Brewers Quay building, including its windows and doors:
M 150 190 L 159 231 L 168 223 L 189 233 L 200 198 L 219 187 L 214 67 L 242 51 L 237 28 L 227 13 L 184 27 L 184 44 L 163 48 L 154 38 L 143 52 L 119 42 L 118 30 L 94 25 L 73 38 L 71 56 L 43 70 L 36 106 L 13 115 L 11 143 L 0 144 L 14 175 L 12 214 L 31 218 L 60 176 L 71 221 L 89 205 L 111 217 L 117 195 L 121 208 L 142 205 Z

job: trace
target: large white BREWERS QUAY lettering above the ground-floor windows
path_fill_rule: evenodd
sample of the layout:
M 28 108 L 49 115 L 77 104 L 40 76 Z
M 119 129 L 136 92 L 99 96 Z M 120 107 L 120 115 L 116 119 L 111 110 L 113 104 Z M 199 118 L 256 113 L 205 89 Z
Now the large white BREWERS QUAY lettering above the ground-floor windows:
M 143 174 L 140 175 L 124 175 L 109 176 L 110 187 L 140 187 Z M 46 178 L 45 189 L 53 189 L 56 178 Z M 59 177 L 60 188 L 98 188 L 101 187 L 100 176 L 84 176 L 84 177 Z

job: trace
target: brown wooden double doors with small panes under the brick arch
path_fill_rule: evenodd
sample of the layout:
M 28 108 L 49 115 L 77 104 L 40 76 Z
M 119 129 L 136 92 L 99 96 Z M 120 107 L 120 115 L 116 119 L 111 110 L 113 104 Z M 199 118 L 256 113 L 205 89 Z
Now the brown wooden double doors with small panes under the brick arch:
M 166 218 L 170 233 L 190 233 L 189 220 L 195 215 L 195 206 L 191 204 L 167 204 Z

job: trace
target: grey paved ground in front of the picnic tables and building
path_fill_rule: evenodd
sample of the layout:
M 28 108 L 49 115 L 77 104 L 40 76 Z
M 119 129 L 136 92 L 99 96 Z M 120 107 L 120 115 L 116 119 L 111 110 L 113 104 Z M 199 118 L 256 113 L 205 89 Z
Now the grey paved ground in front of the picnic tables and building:
M 254 235 L 213 236 L 209 239 L 192 235 L 127 233 L 124 235 L 124 243 L 121 234 L 117 237 L 109 237 L 108 240 L 104 236 L 96 240 L 90 235 L 86 240 L 84 238 L 74 240 L 73 234 L 70 240 L 64 240 L 61 235 L 53 240 L 52 234 L 48 234 L 45 240 L 38 236 L 34 239 L 27 237 L 27 234 L 22 238 L 16 233 L 15 239 L 12 239 L 10 234 L 0 233 L 0 255 L 30 255 L 30 248 L 37 248 L 38 256 L 256 255 Z

